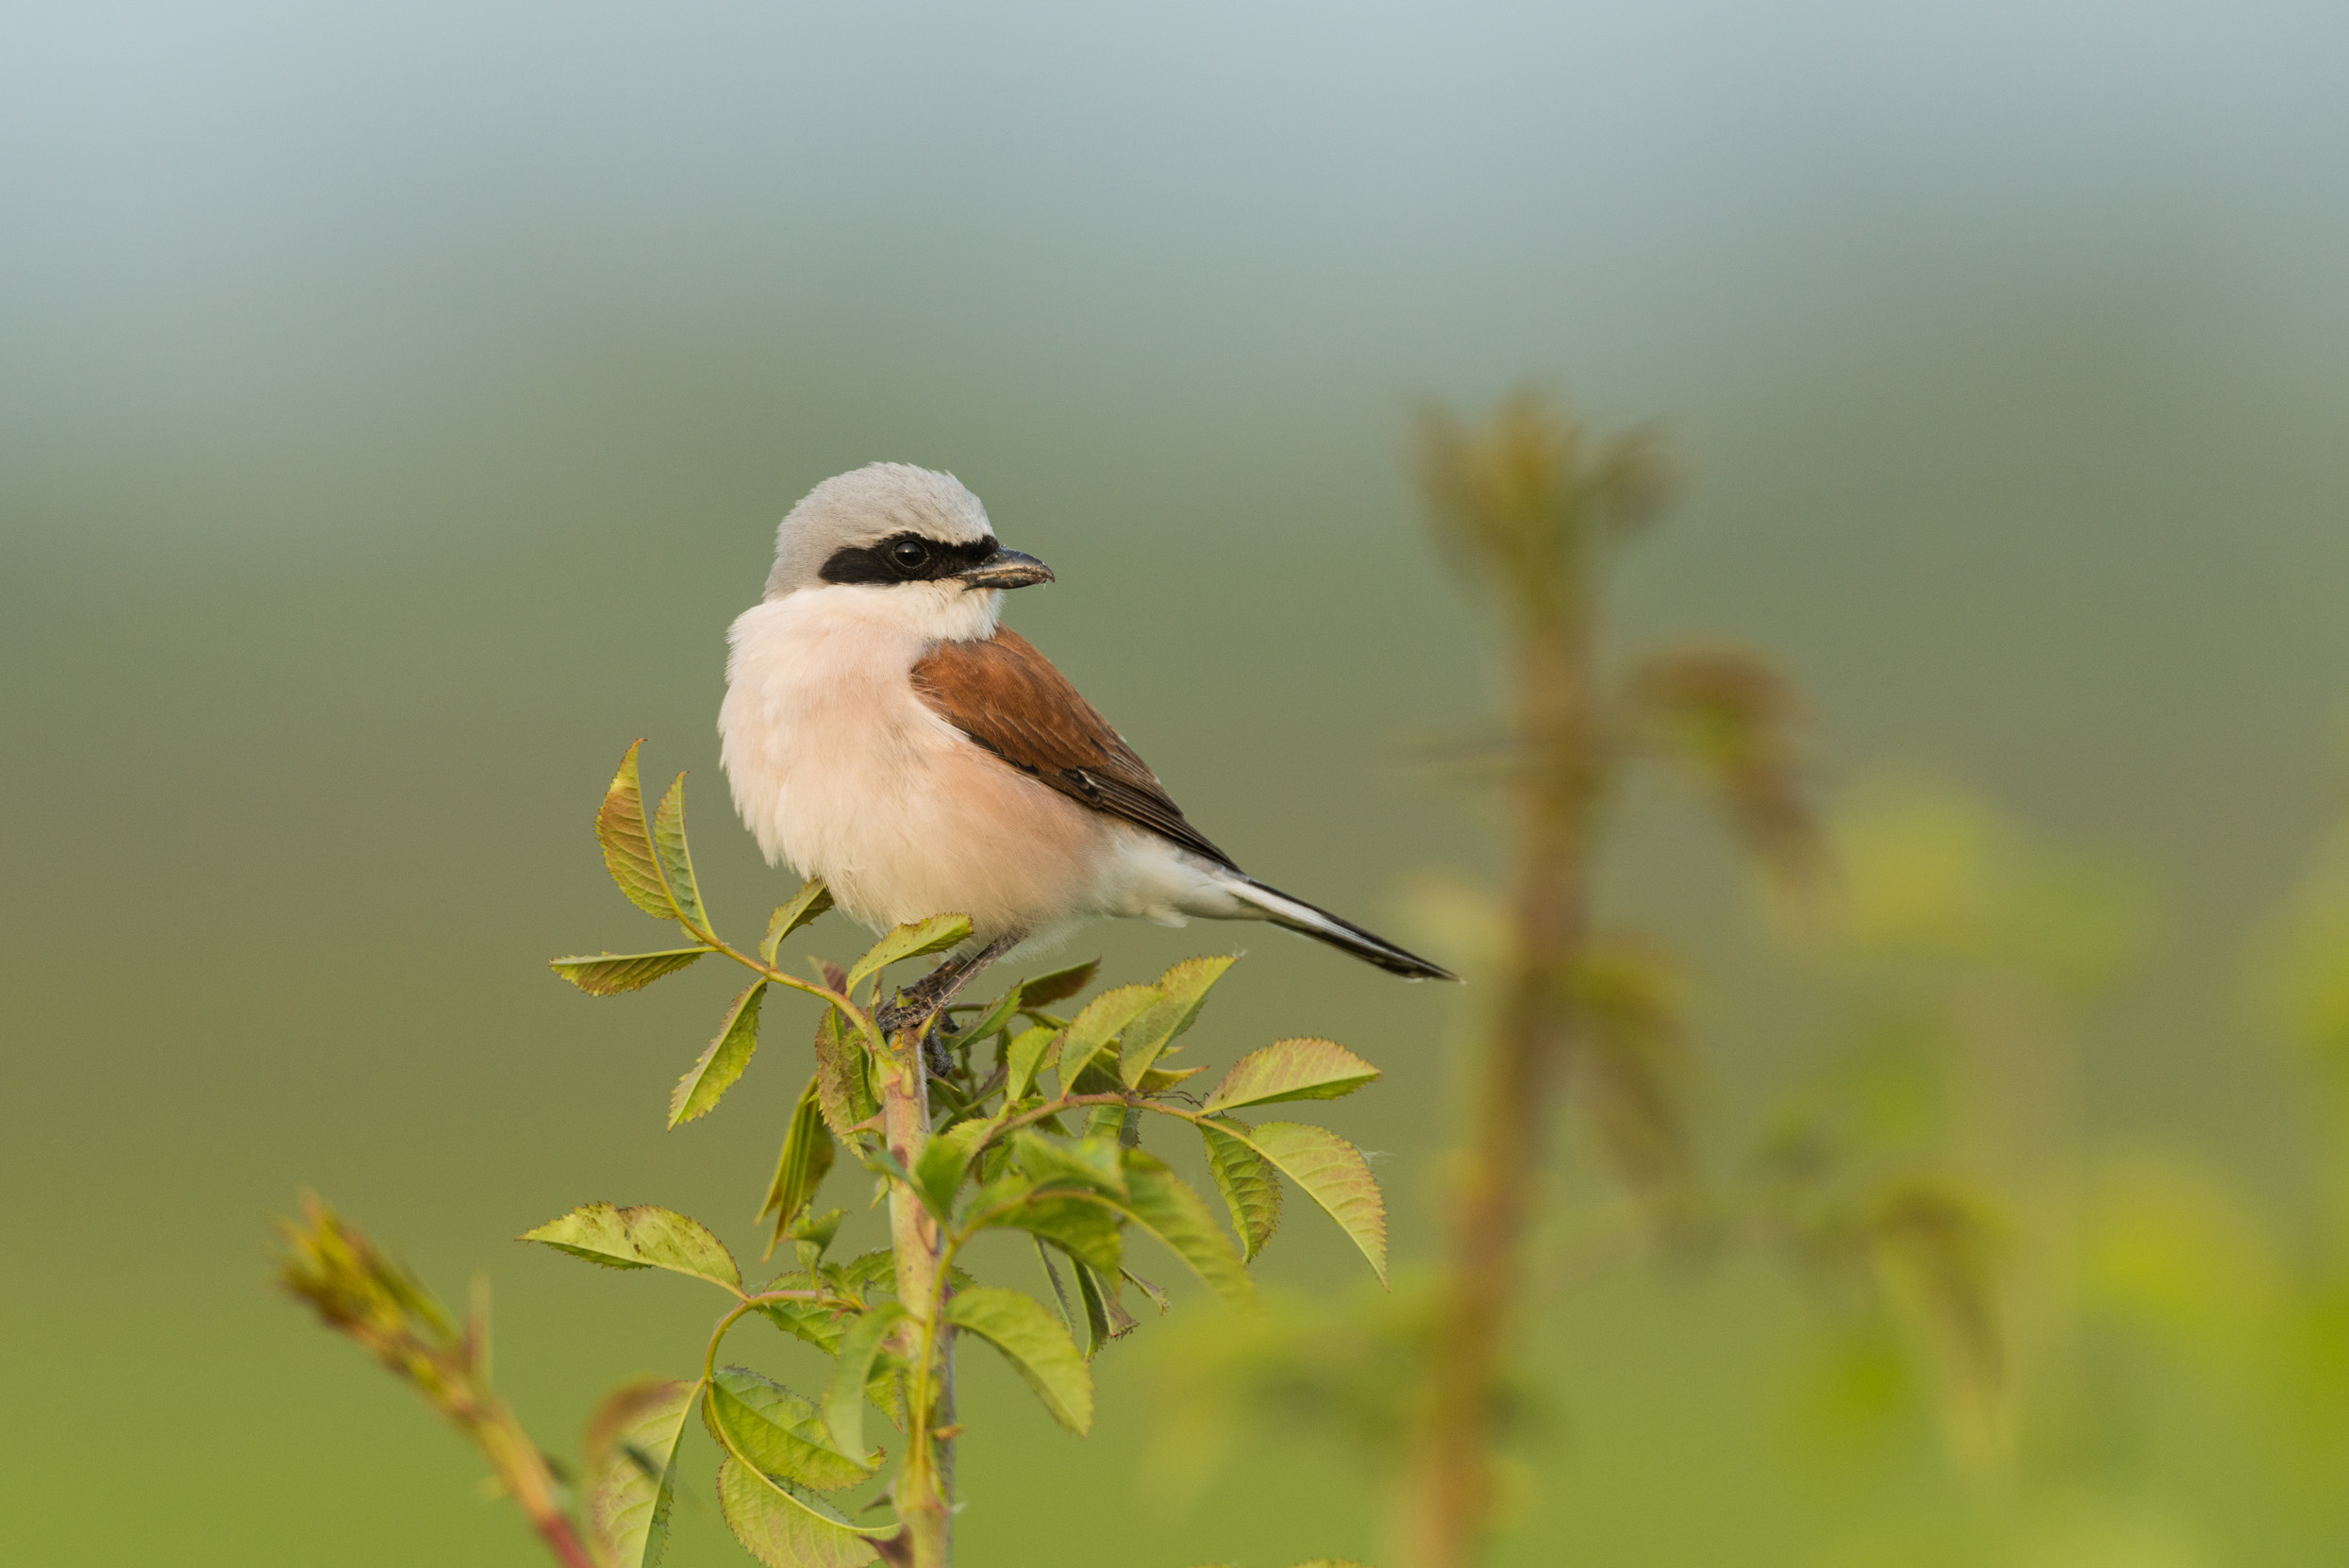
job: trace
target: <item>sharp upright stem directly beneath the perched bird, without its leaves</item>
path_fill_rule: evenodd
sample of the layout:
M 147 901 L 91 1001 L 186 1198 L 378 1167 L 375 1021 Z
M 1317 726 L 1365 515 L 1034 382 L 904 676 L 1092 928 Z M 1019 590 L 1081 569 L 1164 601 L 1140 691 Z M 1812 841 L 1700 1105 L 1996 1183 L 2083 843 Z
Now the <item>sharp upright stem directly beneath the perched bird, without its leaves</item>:
M 890 1041 L 881 1072 L 881 1135 L 890 1154 L 911 1171 L 930 1143 L 930 1084 L 921 1065 L 921 1025 Z M 935 1439 L 954 1427 L 954 1331 L 937 1312 L 937 1220 L 904 1182 L 888 1192 L 890 1246 L 897 1255 L 897 1300 L 916 1314 L 900 1335 L 914 1368 L 907 1399 L 904 1467 L 897 1472 L 897 1516 L 904 1521 L 914 1568 L 949 1568 L 954 1561 L 954 1439 Z

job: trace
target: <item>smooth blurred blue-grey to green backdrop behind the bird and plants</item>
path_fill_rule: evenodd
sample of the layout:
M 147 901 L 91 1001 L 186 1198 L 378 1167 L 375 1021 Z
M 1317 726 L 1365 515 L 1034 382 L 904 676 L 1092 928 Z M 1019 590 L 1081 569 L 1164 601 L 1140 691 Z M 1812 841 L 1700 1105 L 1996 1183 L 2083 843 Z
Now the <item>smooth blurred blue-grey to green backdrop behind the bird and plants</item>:
M 2274 1307 L 2307 1274 L 2323 1354 L 2269 1378 L 2311 1408 L 2243 1392 L 2281 1319 L 2241 1302 L 2201 1349 L 2088 1356 L 2081 1408 L 2121 1415 L 2001 1490 L 1924 1403 L 1823 1418 L 1783 1272 L 1611 1272 L 1536 1312 L 1501 1561 L 2349 1549 L 2335 1095 L 2243 980 L 2342 783 L 2340 7 L 129 2 L 0 40 L 9 1556 L 531 1561 L 472 1455 L 268 1291 L 303 1187 L 446 1293 L 493 1272 L 500 1380 L 554 1446 L 695 1354 L 684 1281 L 507 1237 L 658 1199 L 752 1244 L 799 1025 L 662 1133 L 723 980 L 599 1004 L 543 961 L 651 931 L 590 844 L 634 736 L 693 769 L 721 919 L 785 889 L 712 722 L 723 628 L 829 473 L 958 473 L 1059 571 L 1012 625 L 1193 820 L 1426 929 L 1412 879 L 1492 851 L 1409 755 L 1492 682 L 1398 437 L 1527 376 L 1665 416 L 1689 461 L 1626 637 L 1778 654 L 1828 797 L 1936 780 L 2131 867 L 2145 936 L 2062 1011 L 2062 1161 L 2168 1173 L 2131 1187 L 2156 1220 L 2225 1211 L 2232 1262 L 2173 1284 Z M 1607 903 L 1703 978 L 1731 1168 L 1835 1001 L 1670 792 L 1623 813 Z M 1083 952 L 1156 973 L 1231 936 Z M 1196 1048 L 1381 1063 L 1334 1124 L 1426 1255 L 1456 992 L 1236 936 Z M 1304 1220 L 1266 1262 L 1355 1269 Z M 1146 1481 L 1153 1354 L 1109 1356 L 1088 1441 L 972 1359 L 970 1563 L 1377 1559 L 1346 1448 Z M 695 1486 L 672 1561 L 740 1561 Z

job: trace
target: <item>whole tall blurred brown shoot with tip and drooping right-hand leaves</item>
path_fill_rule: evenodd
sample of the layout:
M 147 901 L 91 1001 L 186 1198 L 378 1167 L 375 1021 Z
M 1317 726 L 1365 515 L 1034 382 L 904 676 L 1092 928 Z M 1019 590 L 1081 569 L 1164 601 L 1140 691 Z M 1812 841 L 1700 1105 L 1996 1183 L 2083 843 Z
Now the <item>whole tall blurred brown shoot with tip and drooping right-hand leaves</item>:
M 1788 886 L 1816 835 L 1795 769 L 1795 698 L 1757 656 L 1672 649 L 1618 677 L 1604 646 L 1616 545 L 1668 501 L 1654 430 L 1597 435 L 1532 393 L 1482 425 L 1421 418 L 1419 484 L 1438 541 L 1499 609 L 1506 910 L 1489 922 L 1492 999 L 1468 1046 L 1468 1114 L 1447 1258 L 1426 1335 L 1416 1462 L 1400 1549 L 1416 1568 L 1482 1561 L 1501 1512 L 1506 1366 L 1527 1319 L 1532 1192 L 1564 1084 L 1658 1234 L 1698 1234 L 1675 966 L 1651 938 L 1600 924 L 1593 889 L 1626 764 L 1689 766 L 1736 837 Z

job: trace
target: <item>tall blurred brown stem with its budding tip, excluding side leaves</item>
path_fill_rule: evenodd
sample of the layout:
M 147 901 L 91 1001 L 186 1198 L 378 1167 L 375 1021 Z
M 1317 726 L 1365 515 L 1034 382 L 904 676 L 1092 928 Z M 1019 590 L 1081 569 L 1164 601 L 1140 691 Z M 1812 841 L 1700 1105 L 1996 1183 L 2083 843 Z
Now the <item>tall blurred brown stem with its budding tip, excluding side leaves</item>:
M 1419 1568 L 1466 1568 L 1492 1528 L 1520 1241 L 1588 945 L 1590 816 L 1604 785 L 1593 564 L 1604 529 L 1661 496 L 1654 458 L 1637 437 L 1586 451 L 1581 428 L 1532 397 L 1503 404 L 1480 433 L 1447 414 L 1423 423 L 1431 510 L 1508 621 L 1515 889 L 1435 1309 L 1405 1526 Z

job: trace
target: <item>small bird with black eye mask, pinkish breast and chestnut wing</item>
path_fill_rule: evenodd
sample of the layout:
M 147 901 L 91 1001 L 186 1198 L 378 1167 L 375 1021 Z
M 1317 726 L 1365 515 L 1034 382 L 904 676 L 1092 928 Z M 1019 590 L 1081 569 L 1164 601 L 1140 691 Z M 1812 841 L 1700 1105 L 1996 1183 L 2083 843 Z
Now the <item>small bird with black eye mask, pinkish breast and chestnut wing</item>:
M 1050 581 L 949 473 L 869 463 L 785 515 L 766 595 L 728 630 L 719 708 L 726 783 L 770 865 L 822 879 L 876 933 L 965 914 L 968 952 L 940 976 L 1090 919 L 1198 917 L 1273 922 L 1405 980 L 1459 978 L 1257 882 L 1193 827 L 1003 625 L 1005 592 Z

